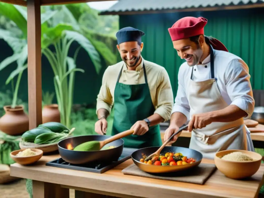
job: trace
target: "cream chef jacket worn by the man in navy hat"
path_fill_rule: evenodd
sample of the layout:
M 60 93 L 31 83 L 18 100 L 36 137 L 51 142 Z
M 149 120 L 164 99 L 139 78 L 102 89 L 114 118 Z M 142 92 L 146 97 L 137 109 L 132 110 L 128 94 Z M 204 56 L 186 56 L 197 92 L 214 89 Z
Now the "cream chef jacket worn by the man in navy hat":
M 116 81 L 121 68 L 122 72 L 119 79 L 120 83 L 145 83 L 143 62 L 145 64 L 152 103 L 155 107 L 154 113 L 159 114 L 164 121 L 170 119 L 174 98 L 168 73 L 164 67 L 144 60 L 143 58 L 140 65 L 136 67 L 135 71 L 128 70 L 123 61 L 107 67 L 105 73 L 103 74 L 100 92 L 97 96 L 96 113 L 100 108 L 104 108 L 111 112 L 111 108 L 114 103 Z

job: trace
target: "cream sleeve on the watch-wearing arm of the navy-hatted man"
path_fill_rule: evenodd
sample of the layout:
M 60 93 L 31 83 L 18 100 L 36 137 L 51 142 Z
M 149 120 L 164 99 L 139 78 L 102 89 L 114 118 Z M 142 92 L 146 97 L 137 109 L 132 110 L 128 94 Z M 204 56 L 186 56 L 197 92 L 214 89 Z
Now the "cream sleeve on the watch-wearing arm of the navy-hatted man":
M 171 117 L 171 110 L 173 107 L 173 92 L 171 82 L 166 69 L 162 69 L 157 80 L 157 109 L 154 113 L 159 114 L 164 121 Z

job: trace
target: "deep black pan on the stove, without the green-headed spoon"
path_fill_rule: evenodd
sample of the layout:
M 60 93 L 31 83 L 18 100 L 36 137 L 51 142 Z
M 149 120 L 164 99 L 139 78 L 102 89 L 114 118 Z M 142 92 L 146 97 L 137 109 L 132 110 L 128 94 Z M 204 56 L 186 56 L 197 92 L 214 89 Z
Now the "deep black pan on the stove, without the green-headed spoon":
M 69 150 L 67 147 L 72 145 L 72 147 L 76 147 L 79 144 L 88 141 L 101 141 L 107 138 L 110 138 L 109 135 L 82 135 L 76 137 L 70 137 L 61 140 L 58 143 L 59 154 L 65 162 L 71 164 L 85 164 L 89 162 L 113 162 L 117 161 L 121 156 L 124 148 L 124 140 L 118 139 L 114 142 L 111 142 L 105 147 L 115 146 L 115 148 L 106 149 L 106 150 L 98 150 L 98 151 L 75 151 Z

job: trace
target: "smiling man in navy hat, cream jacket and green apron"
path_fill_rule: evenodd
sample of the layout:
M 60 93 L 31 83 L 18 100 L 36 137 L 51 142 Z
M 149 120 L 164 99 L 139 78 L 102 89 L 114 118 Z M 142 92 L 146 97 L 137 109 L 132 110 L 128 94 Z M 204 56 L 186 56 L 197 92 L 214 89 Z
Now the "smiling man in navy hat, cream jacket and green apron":
M 105 133 L 106 118 L 114 104 L 111 135 L 134 129 L 133 135 L 122 138 L 124 146 L 129 148 L 161 146 L 159 123 L 169 120 L 173 107 L 167 71 L 141 56 L 144 35 L 133 27 L 116 33 L 122 61 L 105 70 L 97 97 L 96 133 Z

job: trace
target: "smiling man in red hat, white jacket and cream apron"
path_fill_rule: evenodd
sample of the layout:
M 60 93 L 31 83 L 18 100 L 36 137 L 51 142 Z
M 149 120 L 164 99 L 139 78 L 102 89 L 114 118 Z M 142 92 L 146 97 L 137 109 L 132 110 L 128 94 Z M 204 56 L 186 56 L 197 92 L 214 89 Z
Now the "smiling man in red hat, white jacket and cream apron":
M 219 40 L 204 35 L 206 23 L 203 17 L 184 17 L 168 29 L 173 48 L 186 62 L 179 69 L 177 96 L 164 140 L 190 120 L 189 148 L 205 158 L 213 159 L 220 150 L 254 151 L 244 124 L 255 104 L 248 66 Z

